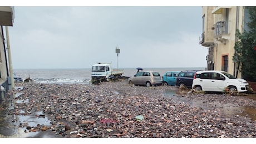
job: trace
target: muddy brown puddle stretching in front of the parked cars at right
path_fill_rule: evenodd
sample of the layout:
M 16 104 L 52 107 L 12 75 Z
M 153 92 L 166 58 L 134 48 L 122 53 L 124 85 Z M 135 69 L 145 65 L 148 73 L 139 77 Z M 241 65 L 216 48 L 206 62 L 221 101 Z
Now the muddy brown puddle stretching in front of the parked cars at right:
M 191 101 L 187 100 L 185 97 L 181 97 L 178 94 L 187 94 L 188 91 L 178 91 L 178 90 L 165 90 L 164 96 L 172 97 L 173 101 L 179 104 L 185 104 L 192 107 L 201 107 L 205 111 L 210 110 L 210 107 L 216 105 L 219 107 L 218 109 L 221 110 L 225 115 L 241 115 L 250 117 L 250 119 L 256 121 L 256 107 L 253 106 L 243 106 L 237 107 L 232 106 L 232 104 L 221 104 L 220 102 L 206 102 L 206 101 Z M 249 99 L 256 100 L 255 96 L 247 96 Z M 238 114 L 239 112 L 239 114 Z M 241 114 L 241 112 L 243 112 Z

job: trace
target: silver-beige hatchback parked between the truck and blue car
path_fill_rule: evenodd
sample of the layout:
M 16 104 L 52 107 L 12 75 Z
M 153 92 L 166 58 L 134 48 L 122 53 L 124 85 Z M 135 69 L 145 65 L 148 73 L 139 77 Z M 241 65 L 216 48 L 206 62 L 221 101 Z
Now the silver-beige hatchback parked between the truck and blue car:
M 128 79 L 130 85 L 157 86 L 163 84 L 163 79 L 157 71 L 139 71 Z

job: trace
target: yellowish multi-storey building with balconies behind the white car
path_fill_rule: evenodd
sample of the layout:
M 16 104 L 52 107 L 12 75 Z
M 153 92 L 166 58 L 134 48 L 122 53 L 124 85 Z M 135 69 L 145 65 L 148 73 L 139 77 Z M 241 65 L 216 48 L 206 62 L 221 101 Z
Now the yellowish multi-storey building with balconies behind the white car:
M 202 7 L 203 33 L 199 44 L 209 49 L 208 70 L 223 70 L 242 77 L 233 61 L 234 45 L 238 40 L 235 32 L 247 29 L 248 17 L 248 8 L 244 6 Z

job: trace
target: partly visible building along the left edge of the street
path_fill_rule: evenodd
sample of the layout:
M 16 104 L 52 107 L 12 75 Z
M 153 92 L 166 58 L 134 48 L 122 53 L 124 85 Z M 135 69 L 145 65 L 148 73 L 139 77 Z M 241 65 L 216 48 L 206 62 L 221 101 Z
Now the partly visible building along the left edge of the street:
M 0 105 L 2 101 L 6 99 L 6 94 L 9 89 L 12 89 L 13 85 L 13 76 L 10 76 L 10 65 L 9 59 L 10 52 L 7 47 L 8 41 L 8 28 L 9 26 L 13 26 L 13 7 L 1 6 L 0 7 Z

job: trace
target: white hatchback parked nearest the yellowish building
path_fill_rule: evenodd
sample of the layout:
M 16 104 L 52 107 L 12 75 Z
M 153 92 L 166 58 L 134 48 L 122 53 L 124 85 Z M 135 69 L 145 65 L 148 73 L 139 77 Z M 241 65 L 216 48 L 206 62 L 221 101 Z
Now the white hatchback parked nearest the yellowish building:
M 222 92 L 228 88 L 230 92 L 246 92 L 249 84 L 246 80 L 235 78 L 225 71 L 206 70 L 196 72 L 192 88 L 195 91 Z

